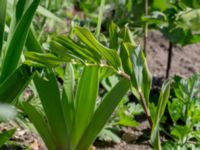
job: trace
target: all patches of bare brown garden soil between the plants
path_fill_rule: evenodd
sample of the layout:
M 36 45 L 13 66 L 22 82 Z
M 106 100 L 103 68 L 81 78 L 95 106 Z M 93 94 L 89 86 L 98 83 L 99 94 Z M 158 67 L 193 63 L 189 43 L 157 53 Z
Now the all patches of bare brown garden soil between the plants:
M 148 36 L 147 60 L 151 73 L 156 78 L 165 77 L 168 56 L 168 41 L 158 31 L 151 31 Z M 180 75 L 183 77 L 200 71 L 200 44 L 180 47 L 175 45 L 173 48 L 173 57 L 170 76 Z M 3 126 L 3 127 L 2 127 Z M 0 124 L 0 130 L 6 126 Z M 150 150 L 148 138 L 147 121 L 144 121 L 136 129 L 127 129 L 122 134 L 123 142 L 120 144 L 96 144 L 95 150 Z M 143 139 L 143 140 L 141 140 Z M 22 144 L 31 145 L 32 150 L 45 150 L 41 139 L 34 133 L 18 128 L 17 133 L 12 138 Z

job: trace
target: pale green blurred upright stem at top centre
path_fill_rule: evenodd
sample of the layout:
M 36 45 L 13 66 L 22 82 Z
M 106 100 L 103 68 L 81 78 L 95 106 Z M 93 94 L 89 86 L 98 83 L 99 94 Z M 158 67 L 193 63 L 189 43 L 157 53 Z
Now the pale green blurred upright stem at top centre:
M 96 37 L 99 38 L 100 31 L 101 31 L 101 23 L 103 18 L 103 9 L 104 9 L 105 0 L 101 0 L 101 6 L 99 9 L 99 15 L 98 15 L 98 23 L 97 23 L 97 29 L 96 29 Z

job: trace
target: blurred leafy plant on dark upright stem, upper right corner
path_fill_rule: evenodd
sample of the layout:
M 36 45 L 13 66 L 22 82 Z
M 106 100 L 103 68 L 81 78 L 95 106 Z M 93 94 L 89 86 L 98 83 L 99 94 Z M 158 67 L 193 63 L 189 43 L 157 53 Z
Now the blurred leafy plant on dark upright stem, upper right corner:
M 187 4 L 187 3 L 186 3 Z M 199 43 L 199 9 L 192 9 L 184 1 L 171 1 L 154 4 L 157 10 L 153 10 L 147 22 L 153 28 L 159 29 L 164 37 L 169 40 L 168 61 L 166 78 L 169 77 L 171 59 L 174 45 L 186 46 Z

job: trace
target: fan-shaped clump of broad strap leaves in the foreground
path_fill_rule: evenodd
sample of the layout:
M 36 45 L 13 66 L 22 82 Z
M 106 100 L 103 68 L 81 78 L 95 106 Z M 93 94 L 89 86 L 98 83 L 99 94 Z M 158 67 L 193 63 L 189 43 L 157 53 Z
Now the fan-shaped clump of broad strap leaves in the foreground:
M 67 67 L 66 81 L 61 94 L 51 71 L 46 73 L 45 78 L 40 75 L 35 77 L 45 116 L 29 103 L 23 103 L 24 111 L 50 150 L 88 149 L 129 89 L 129 81 L 122 79 L 95 109 L 98 67 L 84 68 L 76 90 L 71 69 L 70 66 Z

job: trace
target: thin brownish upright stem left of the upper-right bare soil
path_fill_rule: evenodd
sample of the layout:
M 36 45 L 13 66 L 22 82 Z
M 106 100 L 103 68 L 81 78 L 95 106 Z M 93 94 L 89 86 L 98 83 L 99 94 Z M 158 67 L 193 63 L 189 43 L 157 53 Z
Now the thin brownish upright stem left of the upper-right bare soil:
M 148 0 L 145 0 L 144 4 L 144 15 L 148 16 Z M 144 54 L 147 54 L 147 37 L 148 37 L 148 23 L 144 23 Z

